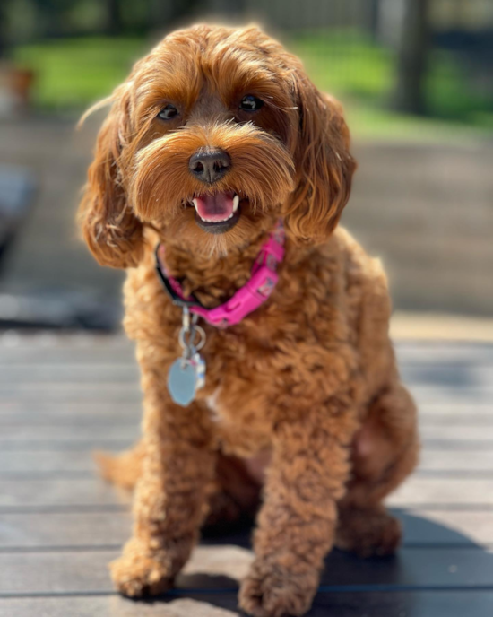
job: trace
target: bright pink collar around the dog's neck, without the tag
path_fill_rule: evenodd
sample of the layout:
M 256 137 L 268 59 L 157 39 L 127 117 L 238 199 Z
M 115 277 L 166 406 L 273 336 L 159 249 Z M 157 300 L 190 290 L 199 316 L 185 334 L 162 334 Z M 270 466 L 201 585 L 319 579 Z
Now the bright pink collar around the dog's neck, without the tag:
M 276 286 L 279 279 L 276 268 L 284 256 L 284 226 L 280 219 L 255 260 L 250 280 L 232 298 L 214 309 L 206 309 L 193 295 L 185 296 L 177 279 L 169 275 L 164 256 L 164 245 L 159 244 L 156 248 L 156 271 L 173 303 L 189 307 L 191 313 L 203 317 L 212 326 L 234 326 L 264 304 Z

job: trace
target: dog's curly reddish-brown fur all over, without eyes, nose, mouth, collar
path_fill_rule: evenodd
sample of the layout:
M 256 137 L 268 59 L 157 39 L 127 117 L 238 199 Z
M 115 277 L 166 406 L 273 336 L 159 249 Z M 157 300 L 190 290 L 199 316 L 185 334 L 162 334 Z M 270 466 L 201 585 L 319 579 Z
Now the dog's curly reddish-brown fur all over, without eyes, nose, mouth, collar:
M 238 108 L 247 94 L 264 100 L 255 114 Z M 164 122 L 169 101 L 179 114 Z M 129 268 L 125 330 L 144 393 L 143 439 L 100 458 L 108 478 L 136 484 L 134 535 L 113 579 L 125 595 L 165 590 L 204 521 L 254 511 L 262 488 L 239 604 L 255 617 L 301 615 L 334 543 L 394 551 L 400 528 L 382 500 L 418 455 L 385 274 L 336 229 L 355 169 L 342 108 L 255 27 L 174 32 L 109 102 L 80 222 L 100 264 Z M 241 197 L 239 222 L 222 235 L 200 229 L 187 205 L 204 190 L 188 169 L 203 146 L 232 162 L 208 190 Z M 181 311 L 155 274 L 157 242 L 170 273 L 212 307 L 247 282 L 280 216 L 288 238 L 275 291 L 237 326 L 203 326 L 206 385 L 177 406 L 166 376 L 181 353 Z

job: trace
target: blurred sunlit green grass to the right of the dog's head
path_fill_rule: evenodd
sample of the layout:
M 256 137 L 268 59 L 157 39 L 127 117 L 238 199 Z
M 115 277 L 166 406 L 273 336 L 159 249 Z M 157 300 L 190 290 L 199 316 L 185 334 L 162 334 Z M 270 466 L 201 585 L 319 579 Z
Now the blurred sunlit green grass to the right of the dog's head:
M 357 32 L 305 33 L 290 47 L 316 85 L 339 97 L 352 132 L 359 136 L 447 140 L 493 130 L 493 100 L 471 90 L 465 71 L 445 52 L 429 57 L 426 99 L 429 115 L 391 109 L 395 58 Z

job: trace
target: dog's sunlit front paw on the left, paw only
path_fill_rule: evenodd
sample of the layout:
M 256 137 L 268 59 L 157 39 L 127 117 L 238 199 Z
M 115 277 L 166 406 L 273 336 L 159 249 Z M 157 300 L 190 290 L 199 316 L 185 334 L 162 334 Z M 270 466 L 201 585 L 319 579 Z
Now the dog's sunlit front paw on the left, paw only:
M 111 578 L 117 590 L 129 597 L 161 594 L 172 587 L 174 580 L 166 561 L 132 539 L 122 556 L 109 564 Z

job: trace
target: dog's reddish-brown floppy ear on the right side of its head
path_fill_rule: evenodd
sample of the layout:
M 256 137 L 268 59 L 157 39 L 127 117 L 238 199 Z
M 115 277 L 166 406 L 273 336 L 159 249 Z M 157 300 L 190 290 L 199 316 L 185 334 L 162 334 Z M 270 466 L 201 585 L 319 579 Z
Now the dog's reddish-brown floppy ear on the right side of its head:
M 295 78 L 299 132 L 295 151 L 296 188 L 285 205 L 290 235 L 323 242 L 332 233 L 350 197 L 356 162 L 341 104 L 321 94 L 303 72 Z

